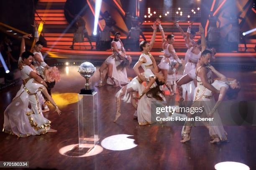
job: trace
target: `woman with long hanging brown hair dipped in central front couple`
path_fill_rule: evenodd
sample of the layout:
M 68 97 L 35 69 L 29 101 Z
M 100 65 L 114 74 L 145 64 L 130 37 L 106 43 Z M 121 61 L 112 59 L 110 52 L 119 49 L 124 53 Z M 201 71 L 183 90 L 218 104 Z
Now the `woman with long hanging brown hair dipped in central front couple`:
M 164 74 L 158 72 L 153 73 L 150 69 L 147 69 L 144 72 L 143 77 L 146 78 L 148 84 L 141 95 L 139 97 L 135 97 L 139 99 L 137 107 L 139 125 L 154 123 L 155 121 L 152 121 L 155 120 L 154 115 L 151 117 L 151 104 L 159 102 L 158 105 L 163 106 L 161 102 L 166 101 L 164 91 L 160 89 L 160 86 L 165 83 Z

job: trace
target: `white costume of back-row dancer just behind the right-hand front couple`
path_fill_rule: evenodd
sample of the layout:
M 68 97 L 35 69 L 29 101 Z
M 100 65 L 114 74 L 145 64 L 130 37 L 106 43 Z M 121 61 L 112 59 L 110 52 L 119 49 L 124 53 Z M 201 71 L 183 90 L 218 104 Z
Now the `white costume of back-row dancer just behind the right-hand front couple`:
M 185 65 L 185 70 L 183 75 L 189 75 L 192 79 L 195 79 L 195 68 L 196 68 L 196 63 L 198 62 L 201 52 L 199 54 L 194 54 L 192 53 L 193 47 L 189 48 L 187 51 L 187 56 L 188 56 L 188 61 L 187 64 Z M 189 62 L 192 61 L 192 62 Z M 193 95 L 194 95 L 194 90 L 195 90 L 195 84 L 193 81 L 188 82 L 187 84 L 182 85 L 182 94 L 183 98 L 185 99 L 186 97 L 186 92 L 187 92 L 187 100 L 192 101 L 193 100 Z

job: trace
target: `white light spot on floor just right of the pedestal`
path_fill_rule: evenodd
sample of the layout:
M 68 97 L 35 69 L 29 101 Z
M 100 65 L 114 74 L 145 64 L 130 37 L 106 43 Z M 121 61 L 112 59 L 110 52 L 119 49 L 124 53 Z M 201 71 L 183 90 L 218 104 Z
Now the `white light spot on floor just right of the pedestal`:
M 127 138 L 132 135 L 119 134 L 105 138 L 101 141 L 101 146 L 108 150 L 128 150 L 135 148 L 137 145 L 134 139 Z

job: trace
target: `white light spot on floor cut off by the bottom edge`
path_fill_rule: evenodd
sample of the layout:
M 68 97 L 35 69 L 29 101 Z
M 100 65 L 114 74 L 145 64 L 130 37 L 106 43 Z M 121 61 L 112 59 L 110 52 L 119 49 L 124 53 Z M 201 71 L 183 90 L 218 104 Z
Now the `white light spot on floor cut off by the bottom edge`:
M 247 165 L 237 162 L 217 163 L 214 168 L 215 170 L 250 170 Z

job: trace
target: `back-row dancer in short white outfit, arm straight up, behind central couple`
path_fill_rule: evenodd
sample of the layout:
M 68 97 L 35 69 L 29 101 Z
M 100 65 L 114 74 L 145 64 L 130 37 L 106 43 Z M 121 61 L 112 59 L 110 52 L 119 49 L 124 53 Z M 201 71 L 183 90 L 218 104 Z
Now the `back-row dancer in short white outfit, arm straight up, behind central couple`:
M 158 67 L 161 69 L 161 72 L 165 77 L 165 85 L 170 91 L 170 95 L 176 94 L 176 80 L 179 80 L 184 71 L 184 64 L 177 56 L 173 43 L 174 43 L 174 35 L 167 35 L 167 40 L 164 35 L 164 29 L 161 26 L 161 21 L 159 19 L 156 20 L 159 24 L 159 30 L 161 31 L 162 39 L 163 39 L 163 50 L 164 57 L 162 58 Z M 177 73 L 176 73 L 177 72 Z

